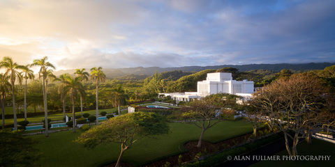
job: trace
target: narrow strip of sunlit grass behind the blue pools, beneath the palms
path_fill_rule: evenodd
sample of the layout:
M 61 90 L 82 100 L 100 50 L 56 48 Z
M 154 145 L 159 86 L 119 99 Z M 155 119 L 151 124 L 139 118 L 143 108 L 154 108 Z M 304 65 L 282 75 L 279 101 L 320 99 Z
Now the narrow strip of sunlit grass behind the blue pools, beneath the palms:
M 106 111 L 107 113 L 114 113 L 114 111 L 117 111 L 117 108 L 113 109 L 99 109 L 99 114 L 101 111 Z M 75 115 L 80 115 L 80 111 L 75 112 Z M 89 111 L 82 111 L 82 113 L 89 113 L 90 115 L 96 115 L 96 110 L 89 110 Z M 72 116 L 72 113 L 66 113 L 68 116 Z M 52 113 L 48 114 L 47 118 L 50 118 L 52 121 L 54 120 L 63 120 L 63 113 Z M 17 118 L 17 122 L 24 120 L 24 118 Z M 28 117 L 27 120 L 31 123 L 34 122 L 42 122 L 44 120 L 44 114 L 40 116 L 34 116 L 34 117 Z M 5 119 L 6 124 L 13 123 L 14 119 Z

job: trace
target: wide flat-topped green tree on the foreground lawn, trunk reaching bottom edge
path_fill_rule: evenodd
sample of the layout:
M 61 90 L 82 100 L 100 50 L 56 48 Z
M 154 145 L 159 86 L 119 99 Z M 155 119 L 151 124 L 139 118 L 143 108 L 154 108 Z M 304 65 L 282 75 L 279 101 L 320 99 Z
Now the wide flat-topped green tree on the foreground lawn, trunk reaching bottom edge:
M 127 113 L 89 129 L 75 142 L 82 143 L 87 148 L 94 148 L 101 143 L 120 143 L 121 152 L 116 164 L 120 166 L 124 152 L 130 149 L 133 143 L 145 137 L 168 134 L 169 131 L 164 116 L 144 112 Z

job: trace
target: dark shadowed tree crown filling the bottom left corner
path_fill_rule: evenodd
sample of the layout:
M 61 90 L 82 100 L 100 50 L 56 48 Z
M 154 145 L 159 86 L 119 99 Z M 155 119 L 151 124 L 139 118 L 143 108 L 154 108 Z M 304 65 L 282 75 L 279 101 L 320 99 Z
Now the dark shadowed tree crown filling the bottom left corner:
M 40 153 L 31 138 L 18 132 L 0 132 L 0 166 L 36 166 Z

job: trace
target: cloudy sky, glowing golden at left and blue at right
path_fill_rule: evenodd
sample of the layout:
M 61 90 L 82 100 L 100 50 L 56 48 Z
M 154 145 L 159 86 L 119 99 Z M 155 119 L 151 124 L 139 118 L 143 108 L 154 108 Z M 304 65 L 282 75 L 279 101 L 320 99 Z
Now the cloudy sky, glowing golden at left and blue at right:
M 57 70 L 335 62 L 334 0 L 0 0 L 0 58 Z

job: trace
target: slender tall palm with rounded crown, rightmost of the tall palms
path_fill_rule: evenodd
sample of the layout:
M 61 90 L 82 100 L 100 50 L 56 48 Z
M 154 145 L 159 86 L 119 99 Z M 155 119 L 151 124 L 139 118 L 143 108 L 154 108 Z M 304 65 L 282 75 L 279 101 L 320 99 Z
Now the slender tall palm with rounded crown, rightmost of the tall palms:
M 91 80 L 96 81 L 96 125 L 99 124 L 99 110 L 98 110 L 98 86 L 99 81 L 105 81 L 106 75 L 103 74 L 103 67 L 92 67 L 91 68 Z

